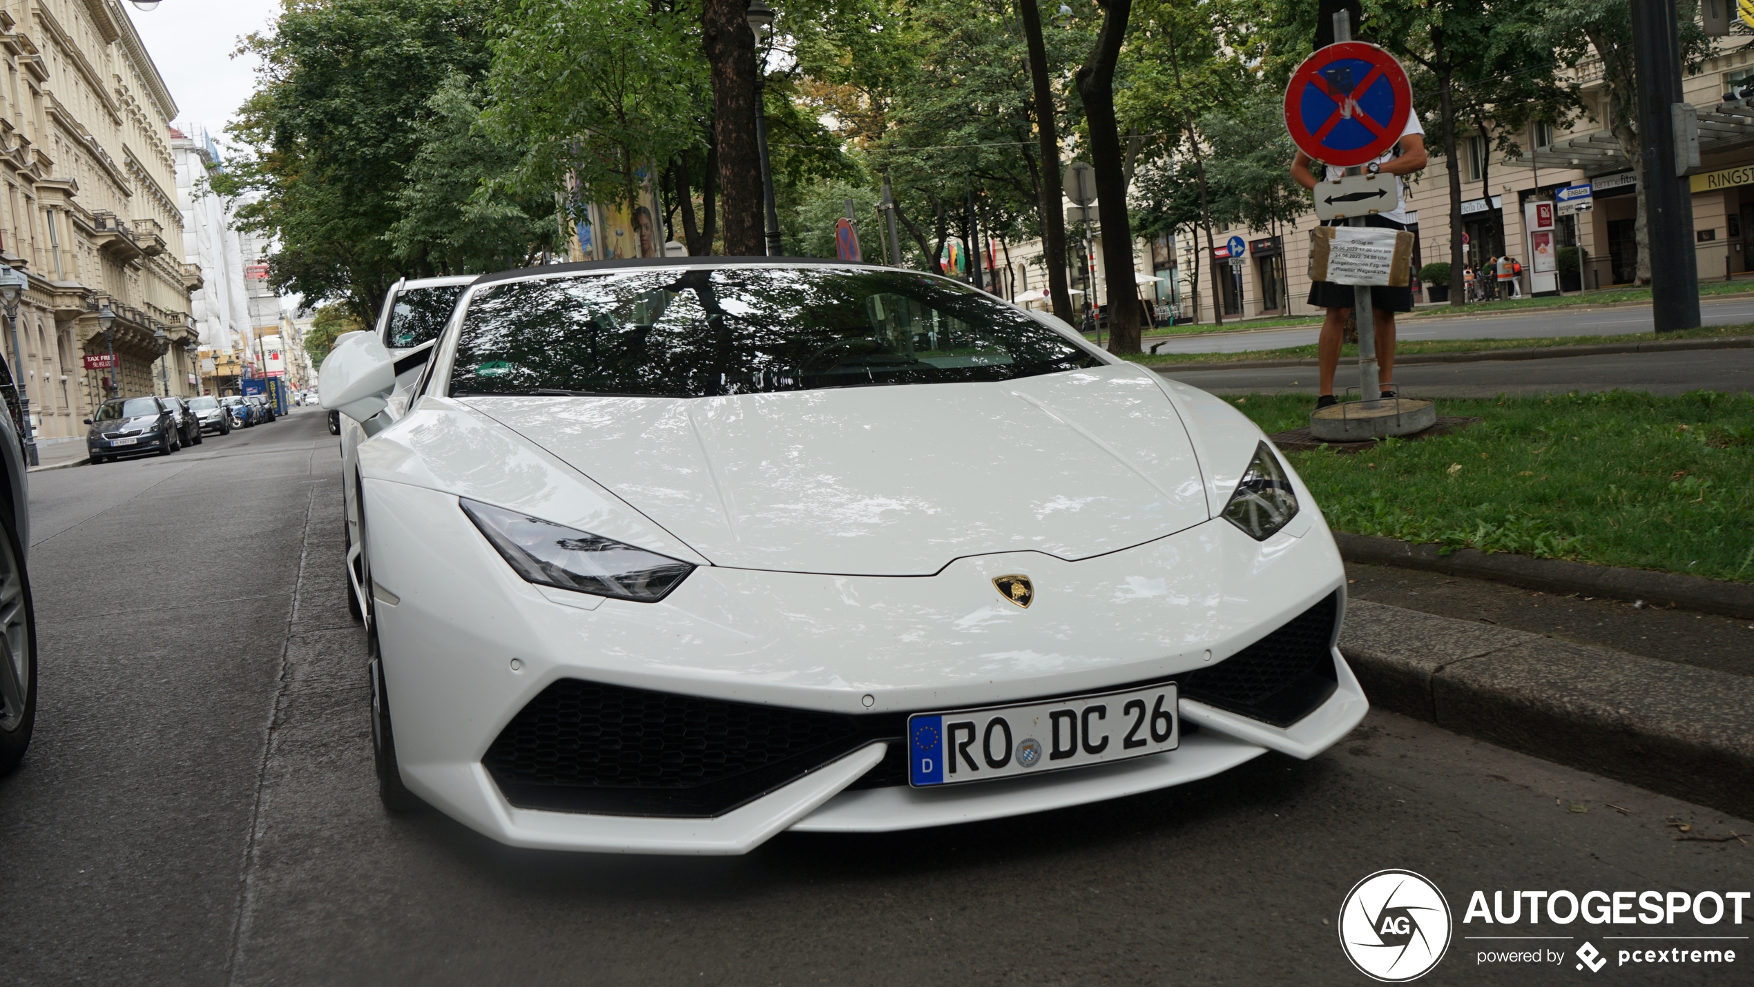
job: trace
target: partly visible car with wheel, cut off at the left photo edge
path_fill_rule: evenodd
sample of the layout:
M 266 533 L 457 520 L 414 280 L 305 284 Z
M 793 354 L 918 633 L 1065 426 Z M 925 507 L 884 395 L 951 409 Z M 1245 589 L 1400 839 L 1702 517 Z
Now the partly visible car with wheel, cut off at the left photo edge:
M 0 358 L 0 389 L 16 394 L 12 373 Z M 11 401 L 9 401 L 11 403 Z M 37 617 L 30 600 L 30 487 L 21 419 L 0 414 L 0 484 L 11 494 L 0 507 L 0 775 L 25 757 L 37 721 Z

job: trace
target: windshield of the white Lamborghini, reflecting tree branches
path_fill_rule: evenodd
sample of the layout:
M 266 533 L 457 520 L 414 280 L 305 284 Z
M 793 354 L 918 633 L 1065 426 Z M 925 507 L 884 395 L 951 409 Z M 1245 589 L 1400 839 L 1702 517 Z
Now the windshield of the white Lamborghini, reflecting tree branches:
M 668 268 L 477 291 L 451 393 L 700 398 L 1100 365 L 989 295 L 924 273 Z

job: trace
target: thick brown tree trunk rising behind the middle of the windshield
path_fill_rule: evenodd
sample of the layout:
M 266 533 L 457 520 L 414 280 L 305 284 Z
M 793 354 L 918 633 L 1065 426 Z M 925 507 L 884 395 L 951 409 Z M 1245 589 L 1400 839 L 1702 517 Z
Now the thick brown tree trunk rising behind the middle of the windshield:
M 756 146 L 756 35 L 744 19 L 747 0 L 705 0 L 700 26 L 712 65 L 714 144 L 724 196 L 724 252 L 765 256 L 761 230 L 761 151 Z

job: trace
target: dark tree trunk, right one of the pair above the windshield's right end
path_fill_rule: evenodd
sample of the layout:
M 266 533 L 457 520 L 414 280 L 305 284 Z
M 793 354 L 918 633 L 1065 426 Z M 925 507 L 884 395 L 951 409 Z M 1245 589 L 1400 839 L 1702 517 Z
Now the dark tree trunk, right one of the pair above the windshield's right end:
M 1121 172 L 1121 130 L 1114 116 L 1114 67 L 1121 58 L 1133 0 L 1105 0 L 1102 30 L 1073 79 L 1089 121 L 1096 209 L 1102 216 L 1103 284 L 1109 289 L 1109 351 L 1138 352 L 1140 310 L 1133 268 L 1133 230 L 1126 219 L 1126 177 Z

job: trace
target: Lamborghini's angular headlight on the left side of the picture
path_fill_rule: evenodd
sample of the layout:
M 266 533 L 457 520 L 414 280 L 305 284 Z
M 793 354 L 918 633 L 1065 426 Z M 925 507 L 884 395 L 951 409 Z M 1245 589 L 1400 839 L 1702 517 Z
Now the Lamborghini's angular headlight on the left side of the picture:
M 458 500 L 463 514 L 493 542 L 500 556 L 528 582 L 656 603 L 695 566 L 670 556 L 623 545 L 516 510 Z

